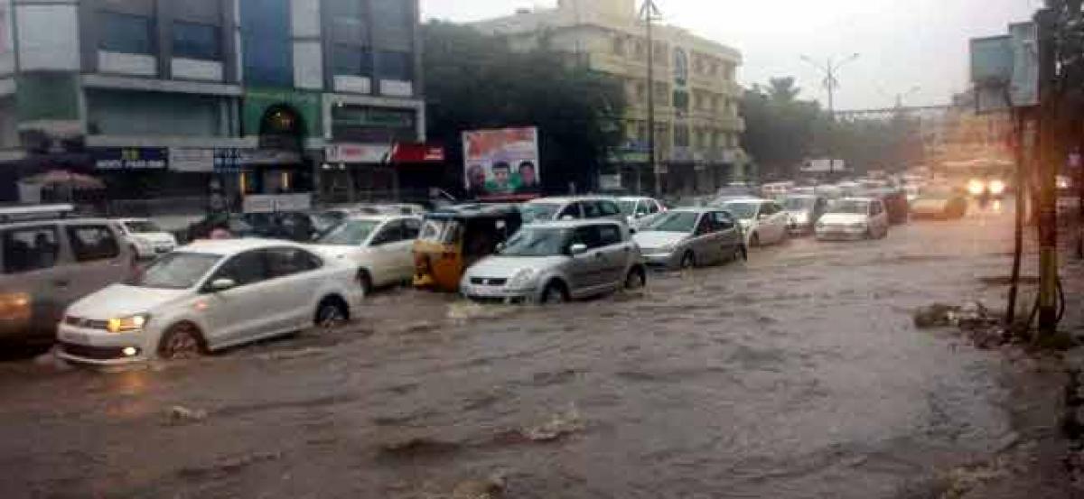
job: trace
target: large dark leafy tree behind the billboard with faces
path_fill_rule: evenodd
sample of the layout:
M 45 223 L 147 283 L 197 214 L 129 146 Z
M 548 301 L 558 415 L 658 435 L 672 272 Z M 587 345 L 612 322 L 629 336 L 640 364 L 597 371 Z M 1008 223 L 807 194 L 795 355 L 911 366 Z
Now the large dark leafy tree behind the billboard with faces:
M 464 131 L 538 127 L 547 193 L 594 186 L 605 152 L 621 140 L 620 82 L 545 48 L 515 52 L 501 38 L 450 23 L 423 26 L 428 136 L 462 165 Z M 543 45 L 544 47 L 544 45 Z M 456 169 L 448 186 L 462 186 Z

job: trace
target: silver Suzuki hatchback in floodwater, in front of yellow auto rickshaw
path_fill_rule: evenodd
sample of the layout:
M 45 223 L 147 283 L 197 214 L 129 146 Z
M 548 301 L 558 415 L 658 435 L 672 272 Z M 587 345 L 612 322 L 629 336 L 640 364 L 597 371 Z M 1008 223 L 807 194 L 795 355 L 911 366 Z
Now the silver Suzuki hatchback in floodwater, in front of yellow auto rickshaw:
M 556 303 L 646 280 L 625 224 L 580 220 L 525 225 L 500 253 L 470 266 L 460 289 L 478 301 Z

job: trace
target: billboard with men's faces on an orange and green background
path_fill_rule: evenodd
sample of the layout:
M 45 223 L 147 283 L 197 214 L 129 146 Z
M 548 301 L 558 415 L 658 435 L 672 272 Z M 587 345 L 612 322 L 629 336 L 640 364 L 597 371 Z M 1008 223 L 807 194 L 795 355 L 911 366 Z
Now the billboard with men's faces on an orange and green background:
M 535 128 L 463 132 L 463 179 L 477 199 L 534 197 L 542 191 Z

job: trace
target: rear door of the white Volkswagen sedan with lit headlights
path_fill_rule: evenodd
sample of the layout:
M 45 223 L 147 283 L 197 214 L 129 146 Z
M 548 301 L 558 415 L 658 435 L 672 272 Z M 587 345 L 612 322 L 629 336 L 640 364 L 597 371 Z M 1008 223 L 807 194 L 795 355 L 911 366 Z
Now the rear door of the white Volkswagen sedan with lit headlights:
M 319 299 L 321 276 L 315 271 L 323 266 L 317 255 L 296 247 L 278 247 L 263 250 L 267 262 L 267 306 L 273 307 L 279 319 L 268 325 L 269 330 L 297 330 L 309 327 Z

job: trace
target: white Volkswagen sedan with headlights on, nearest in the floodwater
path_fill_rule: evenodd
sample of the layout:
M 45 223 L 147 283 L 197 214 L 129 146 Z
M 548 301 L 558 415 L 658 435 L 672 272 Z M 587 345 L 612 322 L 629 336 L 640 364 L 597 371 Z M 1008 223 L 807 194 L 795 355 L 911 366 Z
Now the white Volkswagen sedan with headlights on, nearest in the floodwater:
M 332 327 L 360 306 L 354 276 L 352 267 L 293 242 L 197 241 L 72 304 L 57 328 L 59 355 L 131 364 Z

